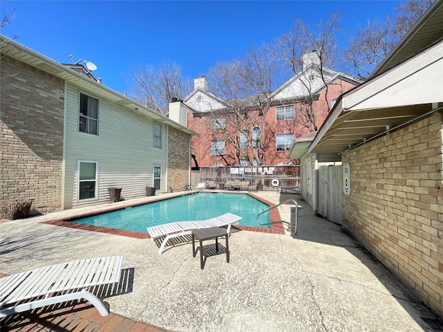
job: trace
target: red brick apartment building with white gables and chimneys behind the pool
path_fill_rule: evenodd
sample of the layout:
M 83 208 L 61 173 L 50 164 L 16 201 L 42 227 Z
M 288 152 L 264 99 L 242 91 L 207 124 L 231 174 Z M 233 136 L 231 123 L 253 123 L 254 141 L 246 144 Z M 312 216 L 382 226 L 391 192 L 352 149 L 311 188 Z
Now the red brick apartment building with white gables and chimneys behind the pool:
M 296 160 L 287 154 L 293 139 L 316 131 L 338 95 L 361 83 L 323 68 L 326 86 L 315 55 L 305 55 L 302 72 L 269 95 L 256 97 L 261 100 L 222 100 L 208 91 L 205 77 L 195 79 L 195 89 L 184 102 L 189 107 L 188 127 L 199 133 L 192 138 L 198 166 L 293 164 Z M 253 106 L 259 103 L 267 105 Z M 314 121 L 303 116 L 308 108 Z

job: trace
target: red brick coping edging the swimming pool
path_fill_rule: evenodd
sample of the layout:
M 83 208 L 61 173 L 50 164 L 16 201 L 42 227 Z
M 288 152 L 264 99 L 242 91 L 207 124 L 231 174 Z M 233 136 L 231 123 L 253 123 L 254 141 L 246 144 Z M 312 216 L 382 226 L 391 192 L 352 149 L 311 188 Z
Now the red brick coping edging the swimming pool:
M 211 191 L 205 191 L 205 192 L 211 192 Z M 232 192 L 230 192 L 232 193 Z M 248 196 L 253 197 L 254 199 L 257 199 L 257 201 L 260 201 L 271 208 L 274 204 L 266 201 L 266 199 L 262 199 L 259 196 L 256 196 L 255 194 L 251 192 L 239 192 L 238 194 L 247 194 Z M 180 197 L 180 196 L 186 196 L 190 195 L 190 193 L 183 193 L 178 194 L 174 197 Z M 133 230 L 119 230 L 117 228 L 108 228 L 103 226 L 96 226 L 96 225 L 84 225 L 82 223 L 73 223 L 71 221 L 76 219 L 82 219 L 87 218 L 88 216 L 96 216 L 98 214 L 104 214 L 109 213 L 113 211 L 118 210 L 124 210 L 125 208 L 134 207 L 134 206 L 140 206 L 145 204 L 150 204 L 154 202 L 159 201 L 165 201 L 166 199 L 172 199 L 174 197 L 161 197 L 159 196 L 156 199 L 152 199 L 152 201 L 149 202 L 141 202 L 141 203 L 128 203 L 127 205 L 119 205 L 118 207 L 111 207 L 111 208 L 105 208 L 101 210 L 97 210 L 94 212 L 84 212 L 80 213 L 74 216 L 59 218 L 59 219 L 53 219 L 50 221 L 44 221 L 43 223 L 46 223 L 48 225 L 55 225 L 60 227 L 66 227 L 66 228 L 75 228 L 78 230 L 88 230 L 91 232 L 102 232 L 106 234 L 114 234 L 114 235 L 120 235 L 122 237 L 132 237 L 134 239 L 151 239 L 150 234 L 143 233 L 143 232 L 134 232 Z M 271 214 L 271 222 L 278 222 L 281 221 L 280 219 L 280 213 L 278 212 L 278 209 L 272 209 L 269 211 Z M 262 232 L 262 233 L 269 233 L 269 234 L 284 234 L 284 228 L 282 223 L 273 223 L 271 225 L 271 228 L 261 228 L 261 227 L 254 227 L 254 226 L 242 226 L 242 225 L 235 225 L 235 228 L 238 228 L 239 230 L 246 230 L 248 232 Z

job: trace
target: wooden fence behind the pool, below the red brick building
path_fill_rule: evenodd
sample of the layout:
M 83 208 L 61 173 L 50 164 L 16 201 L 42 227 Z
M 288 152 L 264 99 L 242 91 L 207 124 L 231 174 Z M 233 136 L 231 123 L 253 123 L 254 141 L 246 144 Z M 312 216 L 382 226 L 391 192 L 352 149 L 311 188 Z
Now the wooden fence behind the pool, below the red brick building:
M 215 181 L 217 185 L 227 180 L 242 179 L 259 183 L 259 190 L 275 190 L 282 186 L 300 185 L 300 165 L 260 167 L 200 167 L 200 182 Z M 277 181 L 275 181 L 275 179 Z M 278 183 L 277 186 L 272 184 Z

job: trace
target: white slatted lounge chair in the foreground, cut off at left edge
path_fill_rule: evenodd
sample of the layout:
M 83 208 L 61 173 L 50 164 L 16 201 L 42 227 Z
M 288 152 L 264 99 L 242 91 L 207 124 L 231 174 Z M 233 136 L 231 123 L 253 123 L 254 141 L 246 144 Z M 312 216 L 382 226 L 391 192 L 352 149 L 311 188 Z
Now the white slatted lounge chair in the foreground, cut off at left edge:
M 122 262 L 122 256 L 82 259 L 0 278 L 0 317 L 74 299 L 87 299 L 107 316 L 88 288 L 119 282 Z

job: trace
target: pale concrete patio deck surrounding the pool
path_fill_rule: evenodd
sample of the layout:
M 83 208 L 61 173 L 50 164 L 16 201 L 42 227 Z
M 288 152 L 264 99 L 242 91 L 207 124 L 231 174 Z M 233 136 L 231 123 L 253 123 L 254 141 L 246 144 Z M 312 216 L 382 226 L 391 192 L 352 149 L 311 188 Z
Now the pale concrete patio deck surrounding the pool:
M 442 331 L 435 315 L 386 268 L 341 226 L 315 216 L 300 196 L 257 196 L 275 204 L 296 199 L 302 206 L 297 235 L 234 232 L 229 264 L 224 251 L 215 255 L 208 241 L 204 250 L 213 253 L 204 270 L 190 243 L 157 255 L 149 239 L 43 223 L 110 204 L 0 223 L 0 272 L 7 275 L 62 261 L 124 256 L 118 288 L 97 290 L 111 315 L 73 303 L 6 317 L 0 330 Z M 112 206 L 118 204 L 123 202 Z M 290 208 L 280 206 L 282 220 L 290 220 Z

